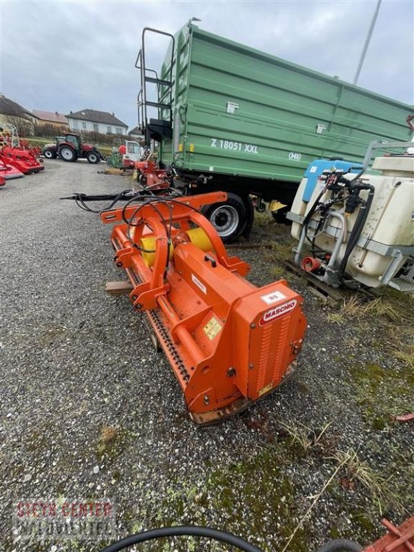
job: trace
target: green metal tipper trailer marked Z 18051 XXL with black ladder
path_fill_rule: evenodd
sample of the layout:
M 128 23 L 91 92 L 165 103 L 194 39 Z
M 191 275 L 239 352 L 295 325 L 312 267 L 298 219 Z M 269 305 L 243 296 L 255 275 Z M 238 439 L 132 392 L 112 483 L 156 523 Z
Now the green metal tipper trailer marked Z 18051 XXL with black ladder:
M 169 40 L 159 73 L 146 66 L 149 33 Z M 230 192 L 227 207 L 206 212 L 226 241 L 250 231 L 249 195 L 289 205 L 315 159 L 360 163 L 374 139 L 411 139 L 411 106 L 191 22 L 175 36 L 144 29 L 137 67 L 139 124 L 159 142 L 161 168 L 188 193 Z

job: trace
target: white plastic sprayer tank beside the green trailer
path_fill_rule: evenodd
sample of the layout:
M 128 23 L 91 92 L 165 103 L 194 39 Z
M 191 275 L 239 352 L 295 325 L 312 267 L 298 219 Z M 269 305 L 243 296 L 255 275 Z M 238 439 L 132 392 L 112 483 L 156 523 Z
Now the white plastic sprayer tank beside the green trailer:
M 364 182 L 375 187 L 375 195 L 357 246 L 348 258 L 346 273 L 362 284 L 375 288 L 384 285 L 386 279 L 396 275 L 409 255 L 414 255 L 414 157 L 377 157 L 373 170 L 381 171 L 382 174 L 362 175 Z M 346 175 L 349 179 L 354 176 Z M 306 216 L 321 191 L 319 185 L 315 186 L 310 201 L 306 202 L 302 199 L 305 186 L 306 179 L 302 179 L 291 209 L 291 213 L 299 217 Z M 328 201 L 330 195 L 331 192 L 326 192 L 320 201 Z M 360 197 L 366 199 L 368 191 L 363 190 Z M 345 217 L 346 233 L 337 257 L 338 262 L 344 257 L 348 236 L 358 212 L 359 208 Z M 326 231 L 318 233 L 315 244 L 332 252 L 336 242 L 335 233 L 339 235 L 341 223 L 337 218 L 329 217 L 327 224 Z M 299 239 L 301 232 L 302 224 L 293 222 L 293 237 Z M 400 253 L 396 250 L 400 250 Z M 391 276 L 390 270 L 393 273 Z

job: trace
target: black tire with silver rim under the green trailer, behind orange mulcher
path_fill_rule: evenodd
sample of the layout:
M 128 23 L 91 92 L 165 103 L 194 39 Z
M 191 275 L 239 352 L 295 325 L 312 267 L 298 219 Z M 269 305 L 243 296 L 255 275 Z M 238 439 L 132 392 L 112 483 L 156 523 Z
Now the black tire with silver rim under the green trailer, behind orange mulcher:
M 224 244 L 231 244 L 243 233 L 246 226 L 246 206 L 242 197 L 228 193 L 222 203 L 207 205 L 203 215 L 213 224 Z

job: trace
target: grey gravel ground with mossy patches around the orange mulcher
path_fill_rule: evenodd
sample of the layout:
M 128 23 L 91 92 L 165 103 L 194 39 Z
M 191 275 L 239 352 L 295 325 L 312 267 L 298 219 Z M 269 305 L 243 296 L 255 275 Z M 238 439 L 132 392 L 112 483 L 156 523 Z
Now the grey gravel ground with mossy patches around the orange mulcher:
M 382 515 L 413 515 L 413 423 L 390 417 L 414 410 L 413 371 L 390 353 L 386 321 L 349 318 L 287 275 L 309 323 L 297 375 L 242 415 L 197 428 L 139 315 L 103 290 L 124 278 L 110 228 L 57 199 L 130 181 L 83 163 L 45 165 L 0 190 L 2 551 L 101 550 L 16 542 L 12 504 L 22 498 L 110 497 L 119 537 L 208 524 L 273 552 L 313 502 L 288 551 L 312 552 L 332 537 L 368 544 Z M 251 241 L 270 239 L 275 250 L 231 251 L 253 264 L 257 285 L 284 276 L 289 246 L 288 228 L 261 217 Z M 188 548 L 177 540 L 146 549 Z

